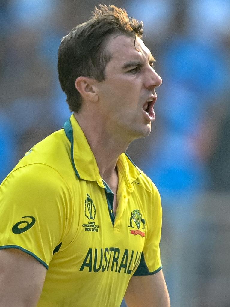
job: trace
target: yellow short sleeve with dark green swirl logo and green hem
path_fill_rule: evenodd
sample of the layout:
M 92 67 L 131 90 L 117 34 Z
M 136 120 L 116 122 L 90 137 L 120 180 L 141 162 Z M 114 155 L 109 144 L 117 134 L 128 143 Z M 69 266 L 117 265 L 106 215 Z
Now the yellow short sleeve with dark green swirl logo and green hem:
M 0 187 L 0 249 L 19 248 L 48 269 L 65 234 L 69 201 L 55 169 L 33 164 L 14 170 Z

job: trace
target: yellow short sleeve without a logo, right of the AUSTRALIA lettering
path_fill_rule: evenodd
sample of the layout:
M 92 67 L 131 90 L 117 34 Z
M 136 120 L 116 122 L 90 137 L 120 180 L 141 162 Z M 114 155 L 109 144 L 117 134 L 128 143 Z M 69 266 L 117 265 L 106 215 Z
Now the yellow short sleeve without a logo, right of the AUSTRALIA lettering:
M 162 269 L 160 260 L 160 239 L 162 226 L 162 207 L 159 192 L 153 185 L 152 203 L 148 214 L 148 236 L 141 254 L 140 263 L 134 275 L 151 275 Z

